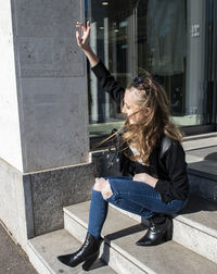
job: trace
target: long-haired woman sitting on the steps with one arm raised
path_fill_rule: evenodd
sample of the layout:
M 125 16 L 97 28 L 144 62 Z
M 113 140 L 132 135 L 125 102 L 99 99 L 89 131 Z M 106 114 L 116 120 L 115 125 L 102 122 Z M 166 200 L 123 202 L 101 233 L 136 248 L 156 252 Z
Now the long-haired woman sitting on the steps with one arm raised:
M 164 88 L 148 73 L 136 77 L 126 89 L 120 87 L 89 46 L 89 22 L 87 27 L 81 23 L 76 27 L 82 32 L 82 36 L 76 32 L 77 43 L 92 72 L 127 116 L 120 153 L 124 176 L 95 179 L 85 242 L 77 252 L 59 257 L 66 265 L 85 262 L 88 269 L 99 257 L 108 202 L 150 221 L 149 231 L 137 245 L 159 245 L 171 239 L 169 214 L 187 204 L 189 182 L 182 135 L 171 122 Z

